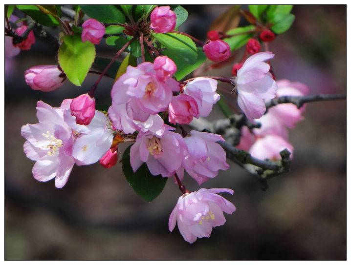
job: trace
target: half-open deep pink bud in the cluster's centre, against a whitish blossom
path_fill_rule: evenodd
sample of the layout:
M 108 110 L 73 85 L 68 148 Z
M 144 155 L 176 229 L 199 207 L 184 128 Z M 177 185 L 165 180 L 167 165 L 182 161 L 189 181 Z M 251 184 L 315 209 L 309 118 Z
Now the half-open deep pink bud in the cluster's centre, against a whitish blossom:
M 173 97 L 168 107 L 169 121 L 173 124 L 189 124 L 193 118 L 198 118 L 197 102 L 194 98 L 180 94 Z

